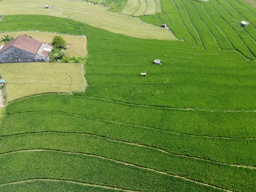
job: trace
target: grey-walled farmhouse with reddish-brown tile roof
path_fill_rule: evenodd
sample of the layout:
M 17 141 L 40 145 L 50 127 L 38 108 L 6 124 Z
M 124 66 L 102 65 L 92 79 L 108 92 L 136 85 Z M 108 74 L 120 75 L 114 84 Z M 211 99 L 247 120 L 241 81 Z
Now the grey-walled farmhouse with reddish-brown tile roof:
M 48 61 L 52 44 L 19 35 L 0 46 L 0 63 Z

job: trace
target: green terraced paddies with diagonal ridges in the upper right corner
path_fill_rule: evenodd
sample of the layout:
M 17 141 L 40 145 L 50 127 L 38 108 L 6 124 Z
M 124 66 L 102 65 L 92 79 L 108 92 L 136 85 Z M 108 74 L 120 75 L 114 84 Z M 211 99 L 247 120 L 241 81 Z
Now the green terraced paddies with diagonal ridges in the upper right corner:
M 140 18 L 156 26 L 167 23 L 177 38 L 195 49 L 236 49 L 255 60 L 256 9 L 242 0 L 162 0 L 161 5 L 163 13 Z M 251 23 L 243 28 L 242 20 Z

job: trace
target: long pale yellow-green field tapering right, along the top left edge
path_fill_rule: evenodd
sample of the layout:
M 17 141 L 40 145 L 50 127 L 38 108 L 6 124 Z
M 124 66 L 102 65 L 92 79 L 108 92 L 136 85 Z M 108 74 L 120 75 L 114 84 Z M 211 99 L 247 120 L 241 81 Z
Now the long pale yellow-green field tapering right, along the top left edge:
M 44 5 L 49 5 L 50 9 L 45 9 Z M 169 30 L 145 23 L 138 17 L 107 11 L 103 6 L 82 0 L 2 0 L 0 7 L 0 15 L 50 15 L 78 20 L 136 38 L 177 40 Z

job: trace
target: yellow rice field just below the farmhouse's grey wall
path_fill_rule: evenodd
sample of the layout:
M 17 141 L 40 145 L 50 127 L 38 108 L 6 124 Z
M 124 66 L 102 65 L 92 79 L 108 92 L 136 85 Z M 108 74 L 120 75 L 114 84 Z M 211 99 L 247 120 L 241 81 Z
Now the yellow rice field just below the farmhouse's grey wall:
M 84 91 L 86 85 L 82 64 L 8 63 L 0 64 L 0 72 L 8 102 L 41 93 Z

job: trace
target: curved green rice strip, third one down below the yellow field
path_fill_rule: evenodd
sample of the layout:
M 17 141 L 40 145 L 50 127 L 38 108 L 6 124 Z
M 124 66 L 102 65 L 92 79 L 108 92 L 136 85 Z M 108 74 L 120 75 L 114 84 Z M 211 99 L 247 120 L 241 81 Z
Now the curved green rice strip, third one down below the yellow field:
M 29 140 L 33 140 L 34 144 L 26 142 Z M 250 184 L 256 182 L 256 172 L 250 168 L 244 169 L 221 163 L 182 157 L 164 153 L 153 148 L 131 145 L 87 134 L 48 132 L 2 137 L 0 141 L 1 143 L 6 143 L 6 145 L 1 146 L 0 154 L 10 151 L 29 151 L 34 149 L 92 154 L 113 159 L 120 163 L 130 163 L 160 172 L 167 172 L 171 175 L 180 175 L 181 177 L 229 190 L 234 190 L 233 185 L 235 184 L 239 186 L 241 191 L 253 191 L 254 187 L 251 187 Z M 23 143 L 23 145 L 20 146 L 19 143 Z M 79 143 L 79 145 L 74 148 L 74 145 L 71 143 Z M 116 150 L 113 151 L 113 148 Z M 151 155 L 149 156 L 148 154 Z M 172 163 L 170 164 L 170 162 Z M 201 175 L 207 175 L 207 177 L 201 177 Z

